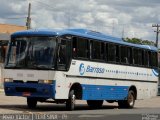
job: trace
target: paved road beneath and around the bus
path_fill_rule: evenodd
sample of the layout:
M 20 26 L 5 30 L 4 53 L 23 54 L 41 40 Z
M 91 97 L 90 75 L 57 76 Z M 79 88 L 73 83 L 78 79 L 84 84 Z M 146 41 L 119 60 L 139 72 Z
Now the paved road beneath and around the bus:
M 14 116 L 6 114 L 31 115 L 34 119 L 52 120 L 57 119 L 79 119 L 79 120 L 160 120 L 160 96 L 147 100 L 137 100 L 134 109 L 119 109 L 117 103 L 109 104 L 104 102 L 101 109 L 90 109 L 86 102 L 77 101 L 75 111 L 66 111 L 63 104 L 38 103 L 36 109 L 31 110 L 26 106 L 26 99 L 23 97 L 10 97 L 0 93 L 0 119 Z M 147 119 L 149 118 L 149 119 Z M 9 120 L 9 119 L 8 119 Z M 22 120 L 22 119 L 21 119 Z

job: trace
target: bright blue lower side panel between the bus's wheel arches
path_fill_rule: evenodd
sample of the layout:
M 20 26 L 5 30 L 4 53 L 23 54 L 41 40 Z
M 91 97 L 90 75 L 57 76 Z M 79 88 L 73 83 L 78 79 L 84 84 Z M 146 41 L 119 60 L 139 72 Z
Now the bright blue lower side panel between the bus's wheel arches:
M 82 85 L 83 100 L 126 100 L 129 86 Z

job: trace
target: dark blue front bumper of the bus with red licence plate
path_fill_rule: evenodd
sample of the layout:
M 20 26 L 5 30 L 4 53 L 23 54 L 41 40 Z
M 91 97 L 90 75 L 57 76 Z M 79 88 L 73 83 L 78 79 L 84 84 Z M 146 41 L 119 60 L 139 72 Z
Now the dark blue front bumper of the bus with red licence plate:
M 6 96 L 55 98 L 55 81 L 52 84 L 44 83 L 14 83 L 5 82 Z

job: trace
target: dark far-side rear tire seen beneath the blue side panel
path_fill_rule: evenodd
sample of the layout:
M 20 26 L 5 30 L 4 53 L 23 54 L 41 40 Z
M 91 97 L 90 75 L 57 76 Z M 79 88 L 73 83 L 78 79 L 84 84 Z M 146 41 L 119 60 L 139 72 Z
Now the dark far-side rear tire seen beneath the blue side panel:
M 103 105 L 103 100 L 87 100 L 87 104 L 90 108 L 98 109 Z

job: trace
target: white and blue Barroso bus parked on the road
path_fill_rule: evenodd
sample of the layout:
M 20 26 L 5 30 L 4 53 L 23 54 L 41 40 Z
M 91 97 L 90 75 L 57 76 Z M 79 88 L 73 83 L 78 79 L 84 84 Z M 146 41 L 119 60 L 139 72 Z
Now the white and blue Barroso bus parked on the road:
M 157 48 L 87 29 L 32 29 L 11 35 L 4 70 L 7 96 L 91 108 L 104 101 L 133 108 L 157 95 Z

